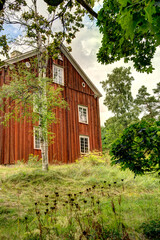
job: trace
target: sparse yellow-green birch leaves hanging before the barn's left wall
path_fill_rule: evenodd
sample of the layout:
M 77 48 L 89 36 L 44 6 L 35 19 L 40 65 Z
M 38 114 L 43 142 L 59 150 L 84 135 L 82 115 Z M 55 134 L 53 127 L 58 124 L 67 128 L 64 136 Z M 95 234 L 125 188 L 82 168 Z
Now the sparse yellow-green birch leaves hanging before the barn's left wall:
M 18 63 L 12 66 L 9 70 L 12 75 L 12 80 L 7 81 L 0 87 L 0 123 L 7 125 L 10 119 L 20 121 L 26 119 L 31 121 L 34 126 L 37 126 L 39 119 L 41 119 L 41 127 L 43 122 L 47 120 L 47 128 L 50 129 L 50 125 L 57 122 L 55 109 L 66 108 L 67 103 L 62 97 L 62 88 L 54 88 L 53 80 L 47 77 L 39 79 L 34 73 L 37 68 L 37 59 L 30 61 L 31 68 L 28 71 L 25 63 Z M 40 81 L 42 82 L 40 84 Z M 42 98 L 42 92 L 46 85 L 46 107 L 41 109 L 45 99 Z M 33 109 L 33 111 L 32 111 Z M 49 133 L 51 139 L 50 130 Z

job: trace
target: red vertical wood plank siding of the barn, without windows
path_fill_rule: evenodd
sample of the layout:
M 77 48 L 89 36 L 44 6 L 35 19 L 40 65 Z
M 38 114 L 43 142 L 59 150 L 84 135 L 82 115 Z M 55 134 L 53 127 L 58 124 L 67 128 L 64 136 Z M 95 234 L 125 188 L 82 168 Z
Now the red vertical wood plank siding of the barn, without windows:
M 69 109 L 56 109 L 57 123 L 53 123 L 51 131 L 55 133 L 54 142 L 49 145 L 49 162 L 72 163 L 80 157 L 79 136 L 89 136 L 90 151 L 101 151 L 101 132 L 99 119 L 99 99 L 94 92 L 63 56 L 61 60 L 49 60 L 47 75 L 53 77 L 53 62 L 64 68 L 63 97 Z M 25 60 L 27 61 L 27 60 Z M 0 69 L 0 86 L 9 79 L 5 69 Z M 55 87 L 57 86 L 54 84 Z M 88 107 L 88 124 L 79 123 L 78 105 Z M 7 107 L 6 107 L 6 111 Z M 0 117 L 2 113 L 0 112 Z M 0 124 L 0 164 L 14 164 L 17 160 L 28 160 L 29 154 L 39 155 L 41 151 L 34 149 L 33 126 L 26 120 L 15 122 L 10 120 L 9 126 Z

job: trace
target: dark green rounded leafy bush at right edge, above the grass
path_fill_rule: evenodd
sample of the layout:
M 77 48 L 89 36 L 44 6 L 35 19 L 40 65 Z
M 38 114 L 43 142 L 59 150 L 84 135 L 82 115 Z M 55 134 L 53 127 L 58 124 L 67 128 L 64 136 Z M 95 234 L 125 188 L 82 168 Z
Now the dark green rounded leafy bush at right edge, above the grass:
M 112 145 L 113 164 L 135 174 L 160 171 L 160 121 L 141 120 L 126 128 Z

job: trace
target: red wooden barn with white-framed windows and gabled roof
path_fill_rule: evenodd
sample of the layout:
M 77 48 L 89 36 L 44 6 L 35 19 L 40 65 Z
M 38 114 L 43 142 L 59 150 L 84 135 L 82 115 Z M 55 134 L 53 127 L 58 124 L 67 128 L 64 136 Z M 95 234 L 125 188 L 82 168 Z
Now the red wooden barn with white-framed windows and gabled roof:
M 29 59 L 35 55 L 36 51 L 15 53 L 6 60 L 5 67 L 0 69 L 0 86 L 11 77 L 8 65 L 24 61 L 29 67 Z M 47 72 L 54 79 L 54 84 L 63 85 L 63 97 L 69 104 L 69 110 L 57 109 L 59 121 L 52 124 L 55 138 L 49 146 L 49 163 L 72 163 L 89 151 L 101 151 L 101 93 L 65 47 L 62 47 L 59 59 L 49 59 L 48 68 Z M 0 164 L 28 160 L 29 154 L 41 156 L 40 144 L 33 134 L 32 124 L 25 120 L 10 120 L 7 127 L 0 124 Z

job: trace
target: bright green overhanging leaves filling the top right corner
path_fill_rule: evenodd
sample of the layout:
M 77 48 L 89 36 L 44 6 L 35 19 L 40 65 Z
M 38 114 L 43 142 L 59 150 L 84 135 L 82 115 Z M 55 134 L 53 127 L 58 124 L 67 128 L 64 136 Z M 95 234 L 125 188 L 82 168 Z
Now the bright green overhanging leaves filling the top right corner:
M 133 61 L 137 71 L 151 73 L 151 60 L 160 45 L 159 16 L 159 1 L 104 0 L 97 22 L 103 35 L 99 62 L 124 58 Z

